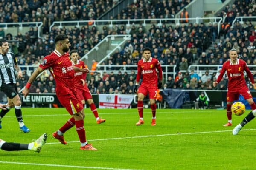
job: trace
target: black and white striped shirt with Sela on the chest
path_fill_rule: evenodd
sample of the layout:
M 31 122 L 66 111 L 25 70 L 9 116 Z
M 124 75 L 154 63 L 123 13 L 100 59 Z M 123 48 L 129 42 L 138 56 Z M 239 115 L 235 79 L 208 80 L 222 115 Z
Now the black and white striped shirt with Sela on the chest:
M 15 65 L 17 65 L 17 58 L 13 53 L 0 54 L 0 85 L 16 84 Z

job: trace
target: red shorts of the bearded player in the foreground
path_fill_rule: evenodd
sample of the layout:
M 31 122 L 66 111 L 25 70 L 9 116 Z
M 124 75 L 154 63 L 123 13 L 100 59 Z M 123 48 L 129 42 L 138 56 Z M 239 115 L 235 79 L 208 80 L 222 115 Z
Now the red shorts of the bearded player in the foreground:
M 73 93 L 64 96 L 57 95 L 58 100 L 61 102 L 61 105 L 67 109 L 70 115 L 76 114 L 82 109 L 84 109 L 79 95 L 75 95 Z

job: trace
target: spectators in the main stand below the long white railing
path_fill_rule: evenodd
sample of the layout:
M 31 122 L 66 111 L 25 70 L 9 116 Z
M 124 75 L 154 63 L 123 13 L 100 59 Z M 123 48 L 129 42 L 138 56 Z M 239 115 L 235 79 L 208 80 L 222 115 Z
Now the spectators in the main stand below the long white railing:
M 17 3 L 19 3 L 18 0 Z M 167 3 L 166 5 L 168 6 Z M 239 58 L 244 59 L 248 65 L 256 64 L 256 26 L 253 26 L 251 22 L 236 22 L 233 27 L 231 25 L 234 20 L 233 16 L 237 16 L 237 13 L 240 16 L 255 16 L 255 10 L 254 0 L 250 0 L 250 2 L 236 0 L 230 8 L 227 7 L 221 12 L 221 17 L 225 19 L 219 35 L 217 23 L 189 23 L 188 25 L 181 23 L 176 26 L 166 26 L 166 23 L 163 23 L 161 26 L 151 24 L 148 30 L 143 25 L 136 26 L 134 24 L 131 24 L 130 27 L 125 25 L 116 25 L 114 28 L 105 26 L 103 31 L 88 26 L 83 26 L 81 29 L 53 27 L 52 31 L 45 36 L 44 41 L 37 38 L 37 30 L 34 28 L 31 28 L 25 35 L 19 33 L 17 37 L 12 37 L 11 34 L 4 35 L 3 29 L 0 29 L 0 36 L 6 37 L 8 40 L 18 40 L 18 46 L 14 42 L 12 43 L 12 51 L 19 56 L 19 65 L 39 65 L 42 57 L 53 50 L 53 38 L 56 34 L 68 34 L 73 45 L 72 48 L 77 49 L 80 56 L 86 54 L 108 34 L 131 34 L 131 40 L 125 44 L 125 48 L 117 50 L 108 61 L 103 63 L 110 65 L 109 70 L 116 69 L 111 65 L 137 65 L 142 49 L 150 47 L 152 57 L 157 58 L 161 65 L 177 65 L 175 79 L 170 75 L 168 79 L 164 80 L 163 88 L 213 89 L 212 82 L 216 80 L 218 73 L 207 70 L 209 68 L 206 66 L 202 68 L 205 73 L 198 75 L 194 71 L 187 71 L 188 66 L 191 64 L 222 65 L 229 58 L 228 51 L 231 48 L 236 48 Z M 227 17 L 225 17 L 225 13 Z M 129 13 L 122 11 L 121 14 Z M 131 13 L 132 16 L 133 14 Z M 120 17 L 123 17 L 122 15 Z M 227 24 L 229 25 L 227 26 Z M 251 70 L 256 69 L 251 68 Z M 23 75 L 24 77 L 17 84 L 18 88 L 24 87 L 27 81 L 26 71 L 23 71 Z M 253 75 L 256 77 L 255 73 Z M 87 85 L 92 94 L 132 94 L 135 77 L 134 71 L 131 74 L 122 74 L 119 71 L 118 74 L 111 72 L 103 75 L 96 72 L 93 75 L 88 74 Z M 227 89 L 227 79 L 222 79 L 215 89 Z M 252 90 L 252 86 L 250 86 L 250 90 Z M 33 83 L 31 91 L 36 93 L 55 92 L 53 77 L 45 72 Z

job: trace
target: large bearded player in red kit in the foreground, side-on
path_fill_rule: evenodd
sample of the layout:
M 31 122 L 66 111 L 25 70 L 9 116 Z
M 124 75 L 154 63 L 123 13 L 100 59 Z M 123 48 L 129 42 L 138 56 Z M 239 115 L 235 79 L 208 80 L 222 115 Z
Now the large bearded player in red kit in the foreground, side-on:
M 84 109 L 79 95 L 76 93 L 75 71 L 87 72 L 86 69 L 77 68 L 72 65 L 68 54 L 70 41 L 67 35 L 59 34 L 55 37 L 55 50 L 44 57 L 42 63 L 29 77 L 26 87 L 22 91 L 26 97 L 29 94 L 29 87 L 36 77 L 45 69 L 49 69 L 56 82 L 56 95 L 67 111 L 72 116 L 58 131 L 52 133 L 52 136 L 58 139 L 62 144 L 67 144 L 63 134 L 71 127 L 76 126 L 81 150 L 96 150 L 91 144 L 88 144 L 84 130 Z

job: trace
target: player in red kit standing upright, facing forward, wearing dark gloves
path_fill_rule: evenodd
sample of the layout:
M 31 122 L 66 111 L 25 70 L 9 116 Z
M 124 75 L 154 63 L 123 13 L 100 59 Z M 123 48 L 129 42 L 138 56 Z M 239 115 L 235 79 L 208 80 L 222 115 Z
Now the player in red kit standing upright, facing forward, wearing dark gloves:
M 134 86 L 134 93 L 138 93 L 138 112 L 139 112 L 139 122 L 136 125 L 141 125 L 144 123 L 143 121 L 143 99 L 146 95 L 149 94 L 150 100 L 150 108 L 152 111 L 152 122 L 151 125 L 156 125 L 156 97 L 157 97 L 157 88 L 161 88 L 162 86 L 162 79 L 163 79 L 163 71 L 160 65 L 160 62 L 157 59 L 151 57 L 151 49 L 144 48 L 143 49 L 143 59 L 138 62 L 137 65 L 137 77 L 136 77 L 136 84 Z M 159 83 L 157 78 L 157 71 L 159 74 Z M 142 82 L 138 89 L 140 76 L 142 74 Z

